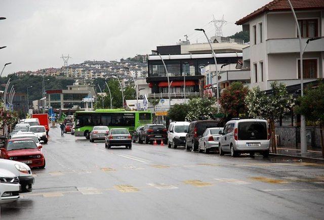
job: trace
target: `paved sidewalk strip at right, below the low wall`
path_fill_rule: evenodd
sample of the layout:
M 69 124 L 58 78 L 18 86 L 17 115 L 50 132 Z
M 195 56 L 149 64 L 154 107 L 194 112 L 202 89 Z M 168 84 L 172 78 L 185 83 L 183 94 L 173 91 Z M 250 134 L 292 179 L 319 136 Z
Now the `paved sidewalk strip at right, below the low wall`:
M 271 148 L 270 148 L 271 150 Z M 287 157 L 295 157 L 299 159 L 315 159 L 318 161 L 324 162 L 322 158 L 322 152 L 320 149 L 308 149 L 306 154 L 300 154 L 300 149 L 294 149 L 289 147 L 277 147 L 277 153 L 270 153 L 272 156 L 287 156 Z

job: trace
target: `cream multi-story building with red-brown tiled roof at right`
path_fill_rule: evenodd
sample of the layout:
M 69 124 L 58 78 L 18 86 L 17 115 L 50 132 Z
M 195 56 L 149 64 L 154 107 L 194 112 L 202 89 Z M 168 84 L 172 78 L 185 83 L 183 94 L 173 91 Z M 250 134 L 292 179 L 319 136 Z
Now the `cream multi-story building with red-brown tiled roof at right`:
M 303 46 L 324 36 L 324 1 L 291 0 L 301 30 Z M 250 32 L 243 49 L 245 67 L 251 69 L 251 86 L 269 90 L 272 81 L 300 83 L 300 47 L 297 26 L 288 1 L 275 0 L 236 21 Z M 304 82 L 323 78 L 324 38 L 309 41 L 303 56 Z

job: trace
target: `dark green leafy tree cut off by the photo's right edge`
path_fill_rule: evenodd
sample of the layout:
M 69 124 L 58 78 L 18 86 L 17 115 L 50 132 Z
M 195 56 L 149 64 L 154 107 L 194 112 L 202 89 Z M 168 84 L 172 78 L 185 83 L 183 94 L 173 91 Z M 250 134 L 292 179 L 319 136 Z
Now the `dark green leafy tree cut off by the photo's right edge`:
M 295 106 L 297 114 L 303 114 L 307 120 L 314 121 L 319 125 L 320 145 L 322 157 L 324 158 L 323 126 L 324 126 L 324 82 L 321 80 L 316 88 L 309 87 L 305 95 L 298 98 L 298 105 Z

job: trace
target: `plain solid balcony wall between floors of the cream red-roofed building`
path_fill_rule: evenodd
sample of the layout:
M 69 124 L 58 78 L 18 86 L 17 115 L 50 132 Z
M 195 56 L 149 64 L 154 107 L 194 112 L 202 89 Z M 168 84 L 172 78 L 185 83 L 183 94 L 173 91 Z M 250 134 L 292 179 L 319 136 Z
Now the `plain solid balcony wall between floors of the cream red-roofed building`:
M 308 38 L 302 38 L 303 46 L 306 44 Z M 281 38 L 281 39 L 267 39 L 266 40 L 267 54 L 282 54 L 282 53 L 299 53 L 299 39 L 298 38 Z M 323 52 L 324 38 L 310 41 L 306 47 L 305 52 Z

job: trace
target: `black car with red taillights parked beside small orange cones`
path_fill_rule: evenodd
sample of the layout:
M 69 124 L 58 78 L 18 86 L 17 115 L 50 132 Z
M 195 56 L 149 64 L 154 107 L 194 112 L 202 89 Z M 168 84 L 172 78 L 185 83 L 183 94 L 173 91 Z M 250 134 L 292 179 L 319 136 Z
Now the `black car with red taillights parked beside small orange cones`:
M 148 144 L 150 142 L 163 141 L 167 143 L 168 129 L 163 124 L 146 124 L 143 128 L 140 129 L 139 143 Z

